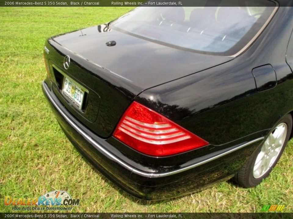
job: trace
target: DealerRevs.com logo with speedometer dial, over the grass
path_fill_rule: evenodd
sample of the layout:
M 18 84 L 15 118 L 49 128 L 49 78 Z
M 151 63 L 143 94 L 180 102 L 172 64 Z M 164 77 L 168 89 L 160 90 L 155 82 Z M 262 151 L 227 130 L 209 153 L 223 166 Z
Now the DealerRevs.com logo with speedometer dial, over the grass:
M 62 190 L 51 191 L 38 198 L 4 196 L 4 205 L 10 205 L 12 210 L 71 210 L 71 206 L 79 205 L 79 201 Z

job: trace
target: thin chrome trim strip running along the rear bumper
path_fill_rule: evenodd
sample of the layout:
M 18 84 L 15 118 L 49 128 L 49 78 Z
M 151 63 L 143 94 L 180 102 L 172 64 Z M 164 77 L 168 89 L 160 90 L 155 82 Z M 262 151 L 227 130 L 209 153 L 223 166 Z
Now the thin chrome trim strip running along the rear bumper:
M 104 149 L 101 145 L 99 145 L 96 141 L 94 141 L 89 135 L 87 135 L 83 130 L 81 130 L 70 118 L 68 118 L 68 116 L 66 116 L 65 113 L 63 113 L 63 111 L 60 109 L 60 107 L 57 105 L 57 103 L 53 100 L 52 96 L 49 94 L 48 90 L 46 89 L 45 86 L 45 82 L 43 81 L 43 89 L 47 95 L 47 97 L 50 99 L 51 103 L 55 106 L 55 108 L 58 110 L 58 112 L 64 117 L 64 119 L 71 124 L 72 127 L 74 127 L 74 129 L 76 131 L 78 131 L 85 139 L 87 139 L 88 141 L 90 141 L 93 145 L 95 145 L 97 148 L 99 148 L 101 151 L 103 151 L 107 156 L 109 156 L 111 159 L 113 159 L 114 161 L 118 162 L 120 165 L 122 165 L 123 167 L 125 167 L 126 169 L 140 175 L 140 176 L 146 176 L 146 177 L 150 177 L 150 178 L 159 178 L 159 177 L 164 177 L 164 176 L 170 176 L 170 175 L 173 175 L 173 174 L 176 174 L 176 173 L 180 173 L 180 172 L 183 172 L 183 171 L 186 171 L 186 170 L 189 170 L 189 169 L 192 169 L 194 167 L 197 167 L 197 166 L 200 166 L 200 165 L 203 165 L 205 163 L 208 163 L 212 160 L 215 160 L 217 158 L 220 158 L 222 156 L 225 156 L 227 154 L 230 154 L 231 152 L 233 151 L 237 151 L 241 148 L 244 148 L 245 146 L 249 145 L 249 144 L 252 144 L 252 143 L 255 143 L 257 141 L 260 141 L 260 140 L 263 140 L 264 137 L 260 137 L 260 138 L 257 138 L 255 140 L 252 140 L 252 141 L 249 141 L 245 144 L 241 144 L 239 147 L 237 148 L 233 148 L 229 151 L 225 151 L 224 153 L 222 154 L 219 154 L 219 155 L 216 155 L 214 157 L 211 157 L 211 158 L 208 158 L 204 161 L 201 161 L 201 162 L 198 162 L 198 163 L 195 163 L 193 165 L 189 165 L 189 166 L 186 166 L 184 168 L 181 168 L 181 169 L 177 169 L 177 170 L 173 170 L 173 171 L 169 171 L 169 172 L 164 172 L 164 173 L 149 173 L 149 172 L 143 172 L 143 171 L 140 171 L 138 169 L 134 169 L 133 167 L 129 166 L 128 164 L 126 164 L 125 162 L 122 162 L 119 158 L 117 158 L 116 156 L 114 156 L 113 154 L 111 154 L 109 151 L 107 151 L 106 149 Z

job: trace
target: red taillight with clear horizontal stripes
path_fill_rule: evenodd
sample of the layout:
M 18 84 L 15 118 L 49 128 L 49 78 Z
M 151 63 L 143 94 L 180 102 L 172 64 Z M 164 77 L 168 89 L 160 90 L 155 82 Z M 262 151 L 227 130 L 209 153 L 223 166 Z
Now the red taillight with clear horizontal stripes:
M 125 111 L 113 136 L 135 150 L 153 156 L 174 155 L 208 144 L 135 101 Z

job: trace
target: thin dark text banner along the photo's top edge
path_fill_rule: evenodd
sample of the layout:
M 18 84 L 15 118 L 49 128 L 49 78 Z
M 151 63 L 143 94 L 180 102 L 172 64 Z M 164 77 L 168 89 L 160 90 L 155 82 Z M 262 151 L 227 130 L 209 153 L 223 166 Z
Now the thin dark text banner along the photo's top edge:
M 147 7 L 213 7 L 213 6 L 259 6 L 267 3 L 268 6 L 293 6 L 293 0 L 0 0 L 0 6 L 2 7 L 125 7 L 125 6 L 147 6 Z

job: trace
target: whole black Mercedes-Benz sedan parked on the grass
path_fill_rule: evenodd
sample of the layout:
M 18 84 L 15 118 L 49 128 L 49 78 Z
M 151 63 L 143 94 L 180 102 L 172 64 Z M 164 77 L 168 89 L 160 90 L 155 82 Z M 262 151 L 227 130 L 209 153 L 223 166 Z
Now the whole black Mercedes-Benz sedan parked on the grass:
M 293 8 L 235 2 L 138 7 L 46 40 L 42 89 L 60 127 L 132 195 L 164 199 L 230 178 L 256 186 L 284 151 Z

